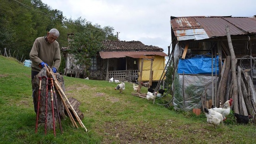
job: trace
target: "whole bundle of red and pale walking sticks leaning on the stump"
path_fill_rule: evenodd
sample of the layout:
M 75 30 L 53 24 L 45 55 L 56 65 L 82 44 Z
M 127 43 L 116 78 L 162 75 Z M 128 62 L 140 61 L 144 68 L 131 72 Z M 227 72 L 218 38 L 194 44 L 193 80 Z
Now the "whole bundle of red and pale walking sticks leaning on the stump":
M 76 120 L 78 121 L 78 123 L 80 124 L 80 126 L 82 128 L 85 128 L 85 125 L 82 123 L 80 117 L 78 116 L 77 112 L 75 112 L 75 109 L 73 108 L 73 106 L 71 105 L 71 103 L 69 102 L 67 96 L 65 95 L 64 91 L 62 90 L 61 86 L 59 85 L 58 80 L 56 79 L 52 69 L 46 65 L 44 65 L 47 68 L 47 75 L 46 76 L 42 76 L 39 77 L 39 96 L 38 96 L 38 102 L 37 102 L 37 122 L 36 122 L 36 133 L 37 133 L 37 124 L 38 124 L 38 116 L 39 116 L 39 103 L 40 103 L 40 93 L 41 93 L 41 84 L 42 84 L 42 79 L 45 78 L 46 79 L 46 107 L 45 107 L 45 129 L 44 129 L 44 133 L 47 133 L 47 99 L 48 99 L 48 85 L 51 86 L 51 104 L 52 104 L 52 114 L 53 114 L 53 131 L 54 131 L 54 137 L 56 137 L 56 133 L 55 133 L 55 120 L 54 120 L 54 110 L 53 110 L 53 98 L 54 98 L 54 102 L 55 102 L 55 106 L 57 108 L 57 113 L 58 113 L 58 119 L 59 119 L 59 126 L 60 126 L 60 130 L 61 133 L 63 133 L 62 131 L 62 127 L 61 127 L 61 122 L 60 122 L 60 116 L 59 116 L 59 109 L 57 106 L 57 101 L 56 101 L 56 92 L 55 92 L 55 88 L 59 93 L 60 99 L 64 105 L 64 109 L 66 110 L 66 112 L 68 113 L 69 119 L 72 122 L 72 125 L 76 128 L 78 128 L 75 119 L 73 118 L 71 112 L 69 111 L 69 108 L 72 110 L 73 114 L 75 115 Z M 50 81 L 50 82 L 49 82 Z M 49 84 L 50 83 L 50 84 Z M 66 105 L 66 102 L 68 103 L 68 106 Z M 87 129 L 85 128 L 85 131 L 87 132 Z

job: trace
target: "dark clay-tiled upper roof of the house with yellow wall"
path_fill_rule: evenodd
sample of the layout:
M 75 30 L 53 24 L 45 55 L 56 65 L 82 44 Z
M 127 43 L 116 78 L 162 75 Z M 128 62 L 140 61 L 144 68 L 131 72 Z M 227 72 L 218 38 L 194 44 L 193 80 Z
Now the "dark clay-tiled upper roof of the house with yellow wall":
M 157 46 L 144 45 L 139 41 L 112 41 L 105 40 L 102 42 L 104 48 L 101 51 L 164 51 Z

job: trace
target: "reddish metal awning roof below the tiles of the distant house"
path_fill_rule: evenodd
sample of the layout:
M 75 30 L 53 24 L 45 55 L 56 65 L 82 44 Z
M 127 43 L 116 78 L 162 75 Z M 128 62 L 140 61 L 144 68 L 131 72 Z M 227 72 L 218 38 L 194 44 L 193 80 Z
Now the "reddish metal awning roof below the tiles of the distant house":
M 167 56 L 164 52 L 160 51 L 101 51 L 99 52 L 102 59 L 110 59 L 110 58 L 125 58 L 125 57 L 132 57 L 132 58 L 139 58 L 142 55 L 160 55 L 160 56 Z

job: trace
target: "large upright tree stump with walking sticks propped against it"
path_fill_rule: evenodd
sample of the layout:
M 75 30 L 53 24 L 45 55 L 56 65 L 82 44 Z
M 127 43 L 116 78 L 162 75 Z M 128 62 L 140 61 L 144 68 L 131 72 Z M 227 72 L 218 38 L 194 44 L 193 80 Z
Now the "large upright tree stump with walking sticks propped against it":
M 55 103 L 54 99 L 54 93 L 53 93 L 53 101 L 51 98 L 51 89 L 53 91 L 53 88 L 51 88 L 51 77 L 47 77 L 46 67 L 44 67 L 32 80 L 32 89 L 34 90 L 34 96 L 36 97 L 36 101 L 38 103 L 38 97 L 39 97 L 39 81 L 42 80 L 41 83 L 41 91 L 40 91 L 40 100 L 39 100 L 39 117 L 38 117 L 38 126 L 45 124 L 45 120 L 47 121 L 47 128 L 53 128 L 53 112 L 54 112 L 54 121 L 55 121 L 55 127 L 59 126 L 59 119 L 58 119 L 58 112 L 57 107 L 59 110 L 59 116 L 60 119 L 63 119 L 65 117 L 64 113 L 64 105 L 61 101 L 61 98 L 59 96 L 59 93 L 57 89 L 55 89 L 55 98 L 57 101 L 57 105 Z M 64 91 L 64 79 L 63 76 L 59 73 L 54 74 L 56 79 L 59 82 L 59 85 Z M 47 81 L 48 80 L 48 81 Z M 46 85 L 48 83 L 48 85 Z M 53 108 L 52 108 L 52 102 L 53 102 Z M 47 105 L 46 105 L 47 104 Z M 52 111 L 53 110 L 53 111 Z M 47 115 L 46 115 L 47 113 Z

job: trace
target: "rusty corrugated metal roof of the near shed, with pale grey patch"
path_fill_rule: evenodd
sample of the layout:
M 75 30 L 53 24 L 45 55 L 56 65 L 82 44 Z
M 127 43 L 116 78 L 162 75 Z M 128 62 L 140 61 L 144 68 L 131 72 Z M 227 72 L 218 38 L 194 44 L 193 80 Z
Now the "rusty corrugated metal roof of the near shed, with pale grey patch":
M 178 41 L 223 37 L 226 36 L 226 25 L 229 26 L 230 35 L 256 33 L 255 17 L 171 17 L 172 31 Z

